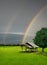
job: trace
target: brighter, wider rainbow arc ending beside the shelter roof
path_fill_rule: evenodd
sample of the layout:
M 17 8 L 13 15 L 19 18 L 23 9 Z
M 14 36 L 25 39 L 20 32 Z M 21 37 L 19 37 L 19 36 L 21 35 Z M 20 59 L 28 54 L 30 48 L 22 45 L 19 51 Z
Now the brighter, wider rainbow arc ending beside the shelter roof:
M 45 10 L 46 6 L 42 7 L 42 9 L 32 18 L 32 20 L 30 21 L 29 25 L 27 26 L 26 30 L 25 30 L 25 33 L 24 33 L 24 36 L 22 38 L 22 43 L 24 43 L 27 35 L 28 35 L 28 32 L 30 31 L 31 29 L 31 26 L 33 24 L 33 22 L 35 22 L 35 20 L 37 19 L 37 17 L 40 16 L 40 14 Z

